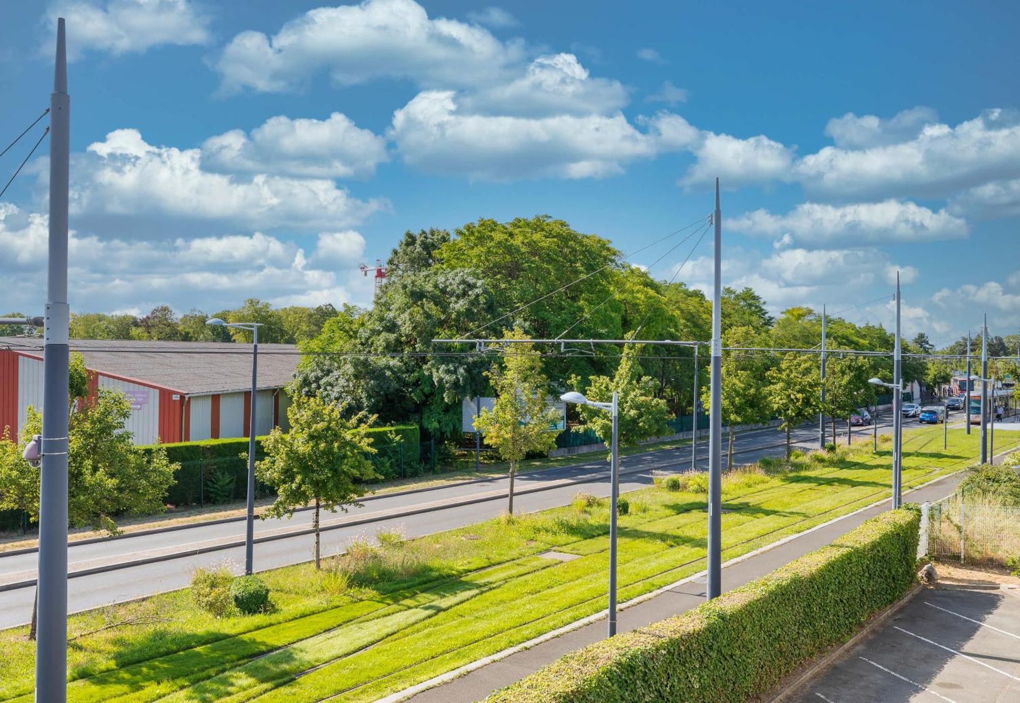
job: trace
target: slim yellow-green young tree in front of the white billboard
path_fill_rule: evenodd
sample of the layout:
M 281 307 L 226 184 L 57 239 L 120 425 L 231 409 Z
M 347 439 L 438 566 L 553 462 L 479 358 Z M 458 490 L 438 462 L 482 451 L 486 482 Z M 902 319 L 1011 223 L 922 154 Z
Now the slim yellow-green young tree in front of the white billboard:
M 523 339 L 516 329 L 504 334 L 506 339 Z M 499 451 L 510 465 L 510 500 L 507 511 L 513 515 L 513 482 L 517 465 L 529 451 L 549 451 L 556 446 L 556 432 L 550 425 L 558 420 L 555 409 L 546 403 L 548 381 L 542 374 L 542 355 L 533 344 L 502 344 L 502 363 L 486 372 L 496 389 L 493 410 L 482 408 L 474 420 L 474 429 L 486 442 Z

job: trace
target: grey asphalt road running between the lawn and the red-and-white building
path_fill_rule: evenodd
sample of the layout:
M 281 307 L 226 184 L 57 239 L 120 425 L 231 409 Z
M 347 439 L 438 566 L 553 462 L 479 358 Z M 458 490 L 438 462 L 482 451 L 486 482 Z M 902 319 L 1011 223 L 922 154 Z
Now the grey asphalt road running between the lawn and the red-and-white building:
M 905 420 L 905 426 L 915 421 Z M 879 430 L 888 425 L 879 424 Z M 870 433 L 871 428 L 855 430 L 855 434 Z M 817 446 L 817 428 L 804 427 L 795 431 L 799 446 Z M 846 441 L 846 428 L 843 428 Z M 762 456 L 781 454 L 776 446 L 783 439 L 775 429 L 756 430 L 736 436 L 734 464 L 756 462 Z M 708 443 L 698 443 L 698 466 L 708 464 Z M 651 451 L 623 457 L 620 463 L 620 491 L 631 491 L 652 483 L 654 470 L 682 472 L 691 468 L 690 446 L 671 450 Z M 629 472 L 629 473 L 628 473 Z M 605 497 L 609 495 L 608 466 L 604 461 L 588 462 L 568 467 L 519 475 L 515 482 L 515 511 L 531 512 L 565 505 L 579 490 Z M 576 483 L 583 481 L 583 483 Z M 342 551 L 356 538 L 373 539 L 376 532 L 399 529 L 407 537 L 442 532 L 498 517 L 506 508 L 508 481 L 492 478 L 468 484 L 438 486 L 412 494 L 381 496 L 367 501 L 362 507 L 352 507 L 348 513 L 323 518 L 323 527 L 336 529 L 322 533 L 324 554 Z M 528 493 L 528 490 L 534 492 Z M 466 504 L 465 504 L 466 503 Z M 424 511 L 424 508 L 434 507 Z M 415 515 L 409 511 L 419 510 Z M 357 525 L 350 525 L 352 522 Z M 370 521 L 370 522 L 365 522 Z M 311 511 L 294 515 L 290 520 L 256 521 L 256 539 L 271 534 L 308 528 Z M 243 521 L 217 525 L 197 524 L 185 530 L 140 535 L 92 544 L 71 543 L 68 565 L 71 572 L 123 563 L 115 571 L 89 574 L 68 580 L 68 611 L 90 608 L 141 598 L 154 593 L 172 591 L 187 586 L 197 566 L 228 564 L 240 573 L 244 564 L 244 547 L 234 546 L 204 553 L 194 553 L 203 547 L 232 543 L 244 539 Z M 312 558 L 311 535 L 285 536 L 255 545 L 255 569 L 264 571 Z M 188 555 L 152 563 L 131 565 L 146 557 L 175 554 L 192 550 Z M 0 585 L 34 579 L 38 554 L 26 553 L 0 556 Z M 0 591 L 0 628 L 28 623 L 32 613 L 35 588 L 32 586 Z

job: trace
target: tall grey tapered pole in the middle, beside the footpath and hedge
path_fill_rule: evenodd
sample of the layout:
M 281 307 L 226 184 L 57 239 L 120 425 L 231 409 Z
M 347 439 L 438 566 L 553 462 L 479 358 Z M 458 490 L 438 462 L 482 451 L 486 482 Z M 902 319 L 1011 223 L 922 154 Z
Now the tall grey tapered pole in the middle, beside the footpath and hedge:
M 722 212 L 715 179 L 715 265 L 712 288 L 712 385 L 708 445 L 708 579 L 705 596 L 722 593 Z

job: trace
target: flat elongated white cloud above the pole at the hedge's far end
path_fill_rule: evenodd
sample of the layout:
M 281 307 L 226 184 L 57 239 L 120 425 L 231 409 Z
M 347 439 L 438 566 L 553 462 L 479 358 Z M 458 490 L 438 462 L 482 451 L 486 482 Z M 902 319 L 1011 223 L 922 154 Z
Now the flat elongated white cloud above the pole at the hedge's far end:
M 895 200 L 846 206 L 802 203 L 785 215 L 756 210 L 730 219 L 726 226 L 755 234 L 782 235 L 785 245 L 796 241 L 847 247 L 967 235 L 967 223 L 945 209 L 932 212 Z

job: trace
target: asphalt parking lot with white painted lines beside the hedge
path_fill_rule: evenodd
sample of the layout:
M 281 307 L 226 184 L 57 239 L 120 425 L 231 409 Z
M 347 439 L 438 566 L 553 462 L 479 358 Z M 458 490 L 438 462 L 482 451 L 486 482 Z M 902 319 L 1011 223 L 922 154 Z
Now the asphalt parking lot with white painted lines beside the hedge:
M 786 700 L 1016 703 L 1020 588 L 926 588 Z

